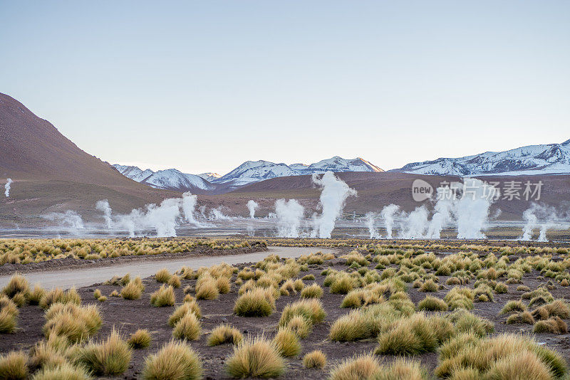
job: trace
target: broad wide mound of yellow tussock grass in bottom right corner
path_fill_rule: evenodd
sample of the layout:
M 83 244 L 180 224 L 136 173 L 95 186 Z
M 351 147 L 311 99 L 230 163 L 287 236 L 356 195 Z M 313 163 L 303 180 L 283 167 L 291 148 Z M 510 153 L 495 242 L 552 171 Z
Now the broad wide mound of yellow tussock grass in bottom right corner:
M 568 372 L 559 354 L 515 334 L 454 344 L 443 354 L 442 349 L 440 364 L 435 369 L 435 375 L 442 378 L 455 378 L 465 369 L 477 371 L 476 379 L 560 379 Z M 519 358 L 524 358 L 527 364 Z M 543 377 L 544 374 L 547 376 Z

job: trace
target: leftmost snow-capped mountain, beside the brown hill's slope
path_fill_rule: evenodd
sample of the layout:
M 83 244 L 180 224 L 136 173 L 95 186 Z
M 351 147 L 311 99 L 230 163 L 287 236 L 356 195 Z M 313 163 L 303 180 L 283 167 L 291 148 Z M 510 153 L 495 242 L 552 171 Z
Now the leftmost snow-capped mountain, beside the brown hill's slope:
M 128 176 L 141 184 L 152 186 L 155 189 L 167 190 L 212 190 L 214 186 L 208 181 L 195 174 L 182 173 L 177 169 L 167 169 L 152 171 L 150 169 L 142 170 L 139 167 L 130 167 L 125 165 L 114 164 L 124 176 Z

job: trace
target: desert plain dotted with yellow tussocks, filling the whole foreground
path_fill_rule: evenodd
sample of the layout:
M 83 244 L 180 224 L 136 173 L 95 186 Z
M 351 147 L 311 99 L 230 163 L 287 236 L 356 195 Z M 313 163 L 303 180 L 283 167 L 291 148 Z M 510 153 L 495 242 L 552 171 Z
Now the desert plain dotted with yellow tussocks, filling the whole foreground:
M 569 376 L 569 243 L 18 239 L 0 260 L 0 379 Z

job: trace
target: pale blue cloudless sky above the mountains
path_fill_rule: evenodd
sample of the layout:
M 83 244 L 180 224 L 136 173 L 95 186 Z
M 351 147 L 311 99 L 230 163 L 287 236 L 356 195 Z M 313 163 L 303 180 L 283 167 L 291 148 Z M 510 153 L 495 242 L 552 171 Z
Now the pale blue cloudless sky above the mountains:
M 4 1 L 0 92 L 86 152 L 224 174 L 570 139 L 569 1 Z

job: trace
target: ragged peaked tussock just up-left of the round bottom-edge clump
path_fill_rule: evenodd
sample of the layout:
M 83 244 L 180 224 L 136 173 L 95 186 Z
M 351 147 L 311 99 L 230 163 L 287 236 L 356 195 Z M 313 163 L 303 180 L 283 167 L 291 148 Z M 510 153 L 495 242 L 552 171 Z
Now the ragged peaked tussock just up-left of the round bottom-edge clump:
M 128 369 L 131 355 L 129 344 L 114 328 L 104 341 L 89 342 L 71 351 L 71 358 L 76 364 L 99 376 L 123 374 Z

